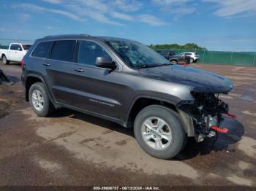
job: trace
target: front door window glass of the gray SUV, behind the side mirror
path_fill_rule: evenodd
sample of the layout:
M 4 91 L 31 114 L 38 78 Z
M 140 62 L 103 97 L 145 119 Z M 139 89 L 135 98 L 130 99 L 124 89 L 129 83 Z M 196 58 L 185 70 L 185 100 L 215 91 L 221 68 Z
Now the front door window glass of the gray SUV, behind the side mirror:
M 110 55 L 95 42 L 80 41 L 78 63 L 95 66 L 97 57 L 110 57 Z

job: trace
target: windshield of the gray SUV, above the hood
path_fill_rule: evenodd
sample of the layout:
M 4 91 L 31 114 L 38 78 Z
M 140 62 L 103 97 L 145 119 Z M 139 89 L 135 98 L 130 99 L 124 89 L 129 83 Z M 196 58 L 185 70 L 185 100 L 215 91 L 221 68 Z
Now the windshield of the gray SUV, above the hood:
M 170 64 L 162 55 L 139 42 L 108 40 L 107 42 L 129 66 L 146 68 Z

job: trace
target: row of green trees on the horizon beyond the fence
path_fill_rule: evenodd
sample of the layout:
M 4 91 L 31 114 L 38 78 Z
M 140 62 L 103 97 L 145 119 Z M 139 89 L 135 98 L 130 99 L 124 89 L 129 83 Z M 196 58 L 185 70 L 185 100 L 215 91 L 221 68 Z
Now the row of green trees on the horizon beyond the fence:
M 180 44 L 150 44 L 153 49 L 188 49 L 188 50 L 207 50 L 205 47 L 200 47 L 195 43 Z

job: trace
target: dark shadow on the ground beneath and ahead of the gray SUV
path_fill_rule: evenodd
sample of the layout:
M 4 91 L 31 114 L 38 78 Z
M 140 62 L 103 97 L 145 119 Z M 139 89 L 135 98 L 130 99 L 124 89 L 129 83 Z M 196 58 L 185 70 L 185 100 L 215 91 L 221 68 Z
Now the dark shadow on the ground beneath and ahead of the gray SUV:
M 93 117 L 89 114 L 83 114 L 80 112 L 75 112 L 70 109 L 61 108 L 58 112 L 55 112 L 51 117 L 67 117 L 82 120 L 84 122 L 89 122 L 94 125 L 100 126 L 107 130 L 117 131 L 118 133 L 124 133 L 127 136 L 135 138 L 132 128 L 124 128 L 118 125 L 116 122 L 110 122 L 108 120 L 101 119 L 99 117 Z M 230 144 L 234 144 L 241 140 L 244 135 L 244 125 L 238 120 L 232 120 L 230 117 L 225 117 L 221 128 L 227 128 L 229 131 L 227 134 L 220 134 L 216 142 L 213 139 L 206 138 L 206 140 L 197 143 L 194 137 L 191 137 L 187 141 L 187 145 L 184 150 L 178 154 L 175 158 L 170 160 L 188 160 L 197 155 L 208 155 L 212 151 L 219 152 L 227 150 Z M 233 152 L 233 150 L 230 150 Z

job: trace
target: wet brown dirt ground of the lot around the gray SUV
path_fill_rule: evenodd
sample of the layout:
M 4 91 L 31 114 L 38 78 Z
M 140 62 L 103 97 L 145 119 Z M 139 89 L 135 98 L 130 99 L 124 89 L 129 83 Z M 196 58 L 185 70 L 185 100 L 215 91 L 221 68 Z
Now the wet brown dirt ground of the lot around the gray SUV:
M 223 74 L 235 88 L 222 99 L 237 119 L 217 143 L 189 140 L 176 159 L 143 152 L 132 130 L 59 109 L 37 117 L 24 101 L 20 66 L 0 65 L 15 85 L 0 85 L 0 185 L 256 186 L 256 67 L 194 65 Z

